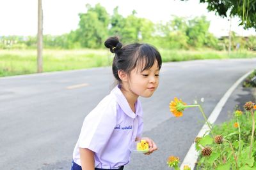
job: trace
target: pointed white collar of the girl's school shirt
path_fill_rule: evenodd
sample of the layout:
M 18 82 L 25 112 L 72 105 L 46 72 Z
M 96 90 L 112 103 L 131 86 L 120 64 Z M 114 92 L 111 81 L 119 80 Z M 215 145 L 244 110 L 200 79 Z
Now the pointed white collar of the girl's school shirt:
M 125 98 L 124 94 L 120 90 L 120 85 L 116 85 L 116 87 L 111 91 L 111 93 L 113 93 L 115 95 L 116 102 L 119 104 L 119 106 L 122 108 L 122 110 L 124 111 L 124 113 L 127 116 L 129 116 L 131 118 L 135 118 L 137 115 L 142 117 L 143 114 L 142 114 L 140 101 L 137 99 L 137 101 L 135 103 L 136 113 L 134 113 L 131 110 L 131 107 L 129 106 L 129 103 L 128 103 L 127 99 Z

